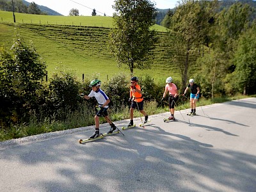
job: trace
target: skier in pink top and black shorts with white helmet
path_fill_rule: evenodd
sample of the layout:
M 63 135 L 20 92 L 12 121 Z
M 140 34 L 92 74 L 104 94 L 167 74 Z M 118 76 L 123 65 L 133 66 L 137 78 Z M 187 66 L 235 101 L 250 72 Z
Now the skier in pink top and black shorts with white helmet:
M 169 120 L 175 120 L 174 118 L 174 106 L 176 104 L 176 101 L 179 98 L 179 92 L 177 89 L 176 84 L 172 83 L 172 77 L 167 77 L 165 83 L 167 83 L 165 85 L 165 89 L 164 89 L 164 95 L 163 95 L 163 99 L 166 96 L 166 93 L 169 92 L 169 97 L 168 97 L 168 102 L 169 102 L 169 108 L 170 108 L 170 113 L 171 116 L 169 117 Z

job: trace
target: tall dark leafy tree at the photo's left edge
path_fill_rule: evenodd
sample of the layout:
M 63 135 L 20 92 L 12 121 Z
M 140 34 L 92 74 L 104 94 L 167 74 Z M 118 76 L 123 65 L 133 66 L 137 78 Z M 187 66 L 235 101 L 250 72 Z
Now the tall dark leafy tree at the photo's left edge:
M 33 44 L 19 37 L 11 50 L 0 50 L 0 125 L 22 122 L 36 108 L 45 68 Z

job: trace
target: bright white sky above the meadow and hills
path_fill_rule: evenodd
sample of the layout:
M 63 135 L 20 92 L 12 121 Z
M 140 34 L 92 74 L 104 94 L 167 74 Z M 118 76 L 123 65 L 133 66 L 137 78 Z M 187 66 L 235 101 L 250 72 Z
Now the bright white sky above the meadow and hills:
M 67 16 L 72 8 L 79 10 L 79 15 L 92 16 L 92 10 L 95 9 L 97 15 L 113 15 L 112 5 L 114 0 L 26 0 L 29 3 L 35 2 L 38 5 L 47 6 L 61 15 Z M 156 3 L 156 8 L 168 9 L 175 8 L 178 0 L 151 0 Z

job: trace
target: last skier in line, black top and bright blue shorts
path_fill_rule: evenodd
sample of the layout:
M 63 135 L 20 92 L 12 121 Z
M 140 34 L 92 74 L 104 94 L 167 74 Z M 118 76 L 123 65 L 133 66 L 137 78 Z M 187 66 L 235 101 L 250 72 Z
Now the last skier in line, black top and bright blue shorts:
M 191 107 L 191 112 L 189 115 L 196 115 L 196 101 L 199 98 L 199 93 L 200 93 L 200 88 L 197 84 L 194 83 L 194 79 L 189 79 L 189 84 L 184 91 L 184 94 L 188 92 L 188 89 L 190 88 L 191 93 L 190 93 L 190 107 Z

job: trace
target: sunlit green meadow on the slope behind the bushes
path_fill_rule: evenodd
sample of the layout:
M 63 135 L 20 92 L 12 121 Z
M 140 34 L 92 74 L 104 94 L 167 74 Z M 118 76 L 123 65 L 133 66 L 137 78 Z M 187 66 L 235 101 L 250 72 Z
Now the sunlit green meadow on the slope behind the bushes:
M 12 12 L 0 11 L 0 18 L 0 45 L 10 47 L 17 34 L 25 42 L 31 40 L 47 65 L 49 77 L 56 68 L 72 70 L 79 78 L 84 74 L 90 79 L 97 74 L 102 81 L 119 72 L 129 73 L 126 65 L 117 66 L 115 57 L 108 49 L 108 34 L 113 27 L 112 17 L 15 13 L 16 23 L 14 24 Z M 179 78 L 177 70 L 172 67 L 170 58 L 166 55 L 161 43 L 166 36 L 166 32 L 162 31 L 166 31 L 166 28 L 155 25 L 154 29 L 158 31 L 159 43 L 154 50 L 151 68 L 135 69 L 134 75 L 142 77 L 148 74 L 161 81 L 168 76 Z

